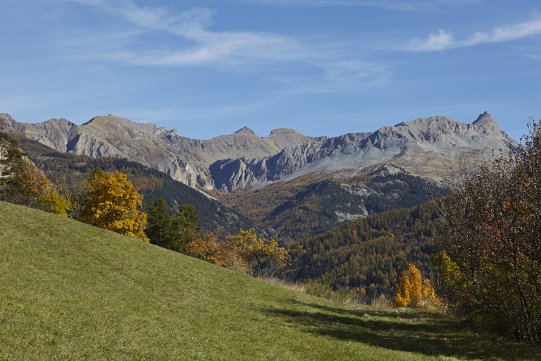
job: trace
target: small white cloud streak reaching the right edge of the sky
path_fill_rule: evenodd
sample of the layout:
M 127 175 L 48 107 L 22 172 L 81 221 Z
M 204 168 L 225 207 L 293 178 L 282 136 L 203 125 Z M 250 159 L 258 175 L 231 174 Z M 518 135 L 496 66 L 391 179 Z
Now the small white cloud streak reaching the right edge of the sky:
M 506 42 L 539 33 L 541 33 L 541 17 L 526 23 L 495 27 L 489 33 L 475 32 L 471 37 L 464 40 L 456 40 L 452 32 L 440 30 L 437 34 L 430 34 L 428 39 L 412 39 L 406 49 L 414 51 L 438 51 L 470 47 L 482 43 Z

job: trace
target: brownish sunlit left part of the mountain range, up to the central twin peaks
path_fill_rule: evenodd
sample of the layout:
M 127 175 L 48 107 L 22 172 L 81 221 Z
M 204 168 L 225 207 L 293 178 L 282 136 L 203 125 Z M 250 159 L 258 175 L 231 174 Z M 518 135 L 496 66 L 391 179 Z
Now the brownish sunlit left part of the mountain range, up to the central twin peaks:
M 0 114 L 0 131 L 20 133 L 59 152 L 90 157 L 125 157 L 163 171 L 187 185 L 212 189 L 209 166 L 219 159 L 263 158 L 290 145 L 311 142 L 312 137 L 292 129 L 276 129 L 258 137 L 242 128 L 211 140 L 194 140 L 154 124 L 135 123 L 118 116 L 96 116 L 77 126 L 64 118 L 43 123 L 19 123 Z

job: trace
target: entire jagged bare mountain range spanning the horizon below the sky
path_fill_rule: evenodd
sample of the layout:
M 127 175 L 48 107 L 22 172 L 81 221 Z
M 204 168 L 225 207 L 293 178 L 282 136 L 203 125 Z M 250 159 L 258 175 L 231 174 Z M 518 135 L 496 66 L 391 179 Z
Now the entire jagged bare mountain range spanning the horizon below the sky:
M 249 128 L 194 140 L 154 124 L 96 116 L 77 126 L 66 119 L 18 123 L 0 114 L 0 130 L 21 133 L 60 152 L 125 157 L 194 187 L 223 192 L 261 187 L 309 172 L 362 169 L 392 162 L 413 175 L 441 166 L 444 152 L 475 154 L 516 145 L 485 112 L 471 124 L 444 116 L 418 118 L 371 133 L 307 137 L 292 129 L 259 137 Z

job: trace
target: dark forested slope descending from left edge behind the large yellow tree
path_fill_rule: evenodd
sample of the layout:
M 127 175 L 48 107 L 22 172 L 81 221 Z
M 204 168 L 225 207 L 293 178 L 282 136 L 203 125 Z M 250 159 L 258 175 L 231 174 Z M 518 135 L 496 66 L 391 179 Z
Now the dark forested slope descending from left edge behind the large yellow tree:
M 175 181 L 166 173 L 135 161 L 116 157 L 76 156 L 57 152 L 23 135 L 13 133 L 0 133 L 0 135 L 4 138 L 15 138 L 19 147 L 30 153 L 32 161 L 54 183 L 69 186 L 70 182 L 89 176 L 97 167 L 106 172 L 119 171 L 128 174 L 128 179 L 144 195 L 144 202 L 150 202 L 151 195 L 154 195 L 155 200 L 162 197 L 168 203 L 171 213 L 177 212 L 180 204 L 192 204 L 199 215 L 198 225 L 205 230 L 223 229 L 227 234 L 234 234 L 240 228 L 249 229 L 255 226 L 250 219 L 239 212 Z

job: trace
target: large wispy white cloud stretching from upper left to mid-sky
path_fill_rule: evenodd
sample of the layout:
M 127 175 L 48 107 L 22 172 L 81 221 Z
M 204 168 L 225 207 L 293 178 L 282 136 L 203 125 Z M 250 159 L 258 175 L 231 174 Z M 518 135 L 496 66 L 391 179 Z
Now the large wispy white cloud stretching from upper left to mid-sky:
M 168 8 L 139 7 L 130 0 L 66 0 L 99 6 L 147 31 L 164 31 L 187 40 L 189 45 L 158 50 L 124 47 L 109 51 L 104 59 L 147 66 L 213 66 L 249 73 L 261 66 L 294 68 L 300 64 L 319 69 L 320 89 L 337 90 L 359 86 L 380 78 L 387 71 L 381 64 L 361 60 L 353 47 L 313 46 L 273 32 L 216 32 L 211 30 L 216 12 L 192 8 L 175 13 Z M 344 60 L 345 59 L 345 60 Z M 316 72 L 317 73 L 317 72 Z M 306 80 L 306 79 L 305 79 Z M 306 90 L 315 87 L 306 87 Z

